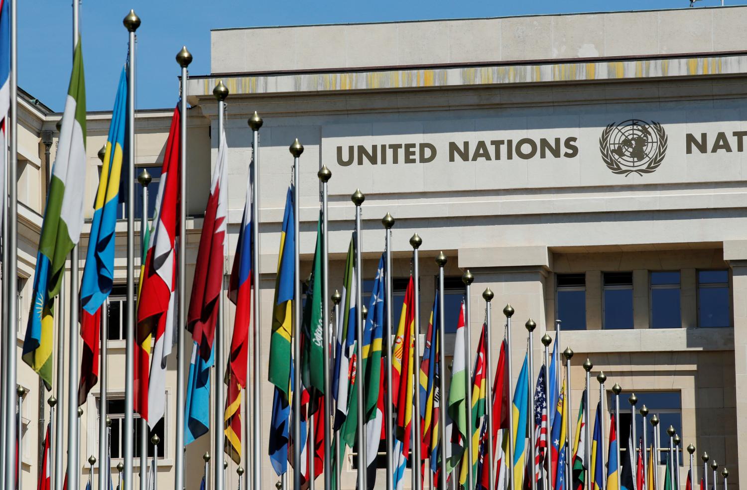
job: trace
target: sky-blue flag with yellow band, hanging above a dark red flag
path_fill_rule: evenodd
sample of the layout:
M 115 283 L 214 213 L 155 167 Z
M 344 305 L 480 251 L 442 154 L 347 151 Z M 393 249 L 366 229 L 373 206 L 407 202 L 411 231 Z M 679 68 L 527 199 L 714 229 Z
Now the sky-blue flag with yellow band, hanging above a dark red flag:
M 111 292 L 114 282 L 114 227 L 120 203 L 120 176 L 127 123 L 127 70 L 122 69 L 114 100 L 106 153 L 93 205 L 93 223 L 88 238 L 86 267 L 81 281 L 81 308 L 95 314 Z

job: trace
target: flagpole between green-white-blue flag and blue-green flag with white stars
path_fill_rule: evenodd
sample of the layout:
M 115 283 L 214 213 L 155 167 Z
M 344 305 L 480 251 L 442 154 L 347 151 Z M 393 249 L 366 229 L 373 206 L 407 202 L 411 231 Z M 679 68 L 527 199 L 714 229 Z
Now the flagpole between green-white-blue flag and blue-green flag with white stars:
M 350 200 L 356 205 L 356 398 L 358 400 L 358 488 L 366 489 L 366 432 L 363 421 L 365 411 L 363 409 L 363 269 L 361 260 L 361 205 L 365 196 L 360 189 L 356 189 Z M 294 487 L 299 488 L 299 487 Z

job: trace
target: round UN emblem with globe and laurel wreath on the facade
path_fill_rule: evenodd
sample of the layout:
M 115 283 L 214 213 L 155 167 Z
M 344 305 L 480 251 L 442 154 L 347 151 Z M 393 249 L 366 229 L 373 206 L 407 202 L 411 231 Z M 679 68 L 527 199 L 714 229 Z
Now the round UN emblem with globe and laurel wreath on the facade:
M 599 137 L 602 160 L 612 173 L 652 173 L 664 160 L 666 132 L 659 123 L 631 119 L 612 123 Z

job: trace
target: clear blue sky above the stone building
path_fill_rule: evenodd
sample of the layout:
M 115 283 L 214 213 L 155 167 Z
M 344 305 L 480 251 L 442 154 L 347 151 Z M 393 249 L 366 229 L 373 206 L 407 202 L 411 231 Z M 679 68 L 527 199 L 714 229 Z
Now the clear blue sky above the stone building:
M 698 7 L 721 0 L 701 0 Z M 726 0 L 727 5 L 747 0 Z M 122 19 L 134 8 L 137 108 L 167 108 L 178 97 L 174 56 L 187 45 L 193 75 L 210 72 L 210 30 L 257 25 L 381 22 L 688 7 L 689 0 L 83 0 L 81 28 L 89 111 L 108 111 L 127 55 Z M 69 0 L 19 1 L 19 86 L 61 111 L 72 53 Z

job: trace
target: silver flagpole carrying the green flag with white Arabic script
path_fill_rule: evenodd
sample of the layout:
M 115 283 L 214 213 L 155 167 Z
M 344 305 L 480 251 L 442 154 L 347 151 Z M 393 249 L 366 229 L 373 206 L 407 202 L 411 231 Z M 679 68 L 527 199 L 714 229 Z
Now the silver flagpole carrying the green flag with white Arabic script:
M 317 177 L 322 184 L 322 325 L 324 326 L 322 341 L 324 355 L 324 489 L 332 488 L 332 427 L 329 424 L 332 417 L 332 382 L 329 373 L 329 362 L 332 360 L 332 354 L 329 352 L 329 235 L 327 228 L 329 226 L 329 215 L 327 214 L 327 198 L 329 196 L 329 179 L 332 179 L 332 172 L 322 165 L 317 173 Z M 336 306 L 335 306 L 336 308 Z M 314 459 L 314 455 L 311 455 Z M 311 475 L 313 477 L 313 475 Z M 257 489 L 259 490 L 259 489 Z

